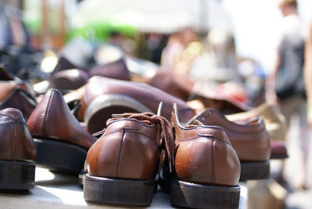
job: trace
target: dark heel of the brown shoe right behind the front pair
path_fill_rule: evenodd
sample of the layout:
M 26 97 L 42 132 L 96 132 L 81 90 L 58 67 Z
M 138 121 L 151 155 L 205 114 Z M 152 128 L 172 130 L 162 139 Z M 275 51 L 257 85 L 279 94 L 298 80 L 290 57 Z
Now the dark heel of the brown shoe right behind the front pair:
M 269 160 L 261 162 L 241 162 L 239 181 L 269 178 Z

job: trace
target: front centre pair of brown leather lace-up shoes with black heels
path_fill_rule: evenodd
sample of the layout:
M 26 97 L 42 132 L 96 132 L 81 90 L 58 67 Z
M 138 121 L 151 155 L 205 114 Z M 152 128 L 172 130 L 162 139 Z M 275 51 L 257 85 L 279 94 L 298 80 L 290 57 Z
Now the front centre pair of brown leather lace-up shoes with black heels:
M 160 112 L 160 111 L 158 111 Z M 84 199 L 147 206 L 158 167 L 165 158 L 171 173 L 171 203 L 191 208 L 238 208 L 239 158 L 221 127 L 172 125 L 151 113 L 121 114 L 107 121 L 87 154 Z M 172 132 L 173 130 L 173 132 Z

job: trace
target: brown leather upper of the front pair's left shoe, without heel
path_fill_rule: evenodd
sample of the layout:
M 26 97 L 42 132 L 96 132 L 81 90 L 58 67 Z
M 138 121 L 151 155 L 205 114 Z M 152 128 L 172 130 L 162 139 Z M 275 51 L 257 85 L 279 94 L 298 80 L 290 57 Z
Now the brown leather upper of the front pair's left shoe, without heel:
M 119 119 L 107 125 L 91 146 L 85 167 L 105 178 L 147 180 L 154 178 L 160 155 L 158 125 L 136 119 Z

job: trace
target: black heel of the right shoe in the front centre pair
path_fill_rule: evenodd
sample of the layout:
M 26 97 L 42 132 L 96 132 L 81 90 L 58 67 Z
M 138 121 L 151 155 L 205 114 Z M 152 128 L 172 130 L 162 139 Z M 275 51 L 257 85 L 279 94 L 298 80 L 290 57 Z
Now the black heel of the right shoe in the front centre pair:
M 186 208 L 239 208 L 239 195 L 239 185 L 199 185 L 173 179 L 170 201 L 174 206 Z

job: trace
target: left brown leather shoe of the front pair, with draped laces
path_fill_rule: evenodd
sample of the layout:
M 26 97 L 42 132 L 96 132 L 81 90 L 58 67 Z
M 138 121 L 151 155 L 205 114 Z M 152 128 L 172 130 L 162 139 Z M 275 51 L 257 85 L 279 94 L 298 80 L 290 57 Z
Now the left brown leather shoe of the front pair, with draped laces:
M 103 135 L 87 154 L 84 199 L 127 206 L 149 205 L 157 187 L 161 136 L 172 160 L 173 134 L 165 118 L 151 113 L 122 114 L 107 121 Z

